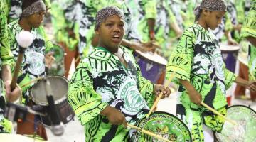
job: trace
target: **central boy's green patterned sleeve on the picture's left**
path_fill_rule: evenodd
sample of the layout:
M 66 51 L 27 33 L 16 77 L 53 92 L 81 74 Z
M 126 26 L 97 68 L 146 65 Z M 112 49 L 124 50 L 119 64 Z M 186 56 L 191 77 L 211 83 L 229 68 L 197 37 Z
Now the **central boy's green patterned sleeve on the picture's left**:
M 89 61 L 88 61 L 89 62 Z M 90 65 L 80 62 L 68 84 L 68 103 L 82 125 L 94 119 L 107 107 L 102 97 L 93 89 Z

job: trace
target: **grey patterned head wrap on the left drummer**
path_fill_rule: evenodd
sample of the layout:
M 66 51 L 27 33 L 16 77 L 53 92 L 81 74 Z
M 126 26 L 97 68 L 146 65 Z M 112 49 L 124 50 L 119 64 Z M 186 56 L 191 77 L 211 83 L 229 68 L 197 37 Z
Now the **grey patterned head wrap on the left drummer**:
M 46 11 L 46 5 L 40 0 L 32 3 L 30 6 L 26 7 L 26 9 L 23 9 L 21 16 L 27 17 L 41 11 Z

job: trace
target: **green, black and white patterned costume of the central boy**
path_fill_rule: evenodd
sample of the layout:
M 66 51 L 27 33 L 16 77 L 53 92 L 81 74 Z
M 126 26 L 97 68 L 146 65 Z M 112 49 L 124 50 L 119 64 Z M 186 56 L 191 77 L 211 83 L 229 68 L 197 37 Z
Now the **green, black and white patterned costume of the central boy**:
M 127 48 L 128 67 L 105 48 L 95 48 L 75 70 L 69 82 L 68 102 L 85 126 L 85 141 L 128 141 L 129 129 L 111 125 L 100 111 L 107 105 L 122 111 L 129 123 L 149 111 L 154 102 L 153 84 L 142 77 L 139 66 Z

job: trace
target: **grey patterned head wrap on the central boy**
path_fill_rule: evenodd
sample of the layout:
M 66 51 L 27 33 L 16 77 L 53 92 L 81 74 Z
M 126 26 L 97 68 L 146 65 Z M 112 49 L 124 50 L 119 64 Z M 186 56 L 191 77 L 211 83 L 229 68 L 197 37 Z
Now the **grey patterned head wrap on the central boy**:
M 107 17 L 117 15 L 124 19 L 124 14 L 116 6 L 107 6 L 96 13 L 95 31 L 100 27 L 100 23 L 104 22 Z

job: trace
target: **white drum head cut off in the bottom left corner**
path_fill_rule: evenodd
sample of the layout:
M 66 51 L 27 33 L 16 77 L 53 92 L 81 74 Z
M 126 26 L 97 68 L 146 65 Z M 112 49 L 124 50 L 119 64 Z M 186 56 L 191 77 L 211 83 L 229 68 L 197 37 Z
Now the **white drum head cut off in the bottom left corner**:
M 16 135 L 16 134 L 8 134 L 8 133 L 0 133 L 1 141 L 10 141 L 10 142 L 43 142 L 41 139 L 30 138 L 27 136 Z M 44 141 L 46 142 L 46 141 Z

